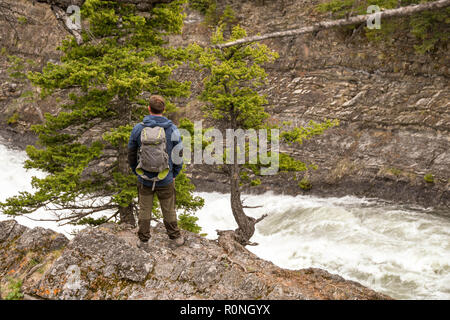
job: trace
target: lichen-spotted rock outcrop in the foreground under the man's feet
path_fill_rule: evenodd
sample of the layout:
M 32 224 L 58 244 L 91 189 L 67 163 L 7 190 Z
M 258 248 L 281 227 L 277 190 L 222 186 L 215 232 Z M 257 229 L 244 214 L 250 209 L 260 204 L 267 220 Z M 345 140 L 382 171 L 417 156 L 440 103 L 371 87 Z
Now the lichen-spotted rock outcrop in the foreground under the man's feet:
M 185 237 L 174 249 L 158 225 L 147 253 L 136 247 L 135 230 L 112 223 L 69 241 L 3 221 L 2 296 L 21 279 L 27 299 L 389 299 L 324 270 L 278 268 L 226 238 Z

